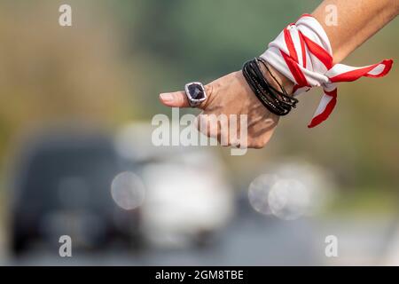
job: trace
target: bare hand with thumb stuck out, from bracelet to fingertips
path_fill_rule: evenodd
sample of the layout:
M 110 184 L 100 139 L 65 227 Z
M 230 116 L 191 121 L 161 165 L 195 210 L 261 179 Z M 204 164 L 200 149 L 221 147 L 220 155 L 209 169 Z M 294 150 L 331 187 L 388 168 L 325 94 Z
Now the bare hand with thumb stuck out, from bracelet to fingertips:
M 275 70 L 274 74 L 278 77 L 280 83 L 286 82 L 282 75 L 278 74 Z M 280 80 L 280 78 L 282 78 Z M 269 78 L 268 78 L 269 79 Z M 269 80 L 271 83 L 273 80 Z M 202 113 L 198 116 L 198 121 L 207 120 L 207 115 L 204 114 L 246 114 L 247 115 L 247 141 L 246 146 L 249 148 L 262 148 L 265 146 L 276 126 L 278 124 L 278 115 L 270 113 L 270 111 L 262 105 L 259 99 L 256 98 L 254 92 L 250 89 L 246 83 L 244 75 L 241 71 L 233 72 L 229 75 L 225 75 L 212 83 L 208 83 L 205 86 L 207 92 L 207 100 L 202 102 L 199 106 L 202 109 Z M 165 106 L 171 107 L 189 107 L 189 102 L 186 98 L 184 91 L 176 91 L 171 93 L 160 94 L 160 101 Z M 238 122 L 238 127 L 240 123 Z M 200 123 L 197 123 L 200 126 Z M 235 141 L 229 139 L 228 127 L 217 127 L 217 130 L 203 130 L 199 127 L 199 130 L 207 136 L 215 136 L 219 143 L 227 141 L 228 146 L 237 146 Z M 240 130 L 238 130 L 240 133 Z M 215 134 L 215 135 L 211 135 Z M 224 140 L 223 140 L 224 138 Z M 245 146 L 244 146 L 245 147 Z

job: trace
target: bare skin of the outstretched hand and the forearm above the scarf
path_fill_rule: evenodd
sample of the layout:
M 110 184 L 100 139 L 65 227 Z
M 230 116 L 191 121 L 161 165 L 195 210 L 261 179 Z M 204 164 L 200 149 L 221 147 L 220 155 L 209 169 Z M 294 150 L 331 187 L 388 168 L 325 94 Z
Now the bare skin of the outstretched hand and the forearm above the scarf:
M 326 26 L 325 18 L 330 10 L 326 6 L 334 4 L 338 12 L 338 26 Z M 394 20 L 399 14 L 399 0 L 325 0 L 312 13 L 319 23 L 325 28 L 325 32 L 332 44 L 334 63 L 345 59 L 349 53 L 355 51 L 362 43 Z M 270 66 L 269 66 L 270 67 Z M 273 67 L 271 72 L 278 79 L 288 93 L 293 90 L 293 83 L 284 75 L 278 73 Z M 274 81 L 270 75 L 263 73 L 270 83 Z M 277 88 L 277 83 L 274 83 Z M 262 103 L 254 96 L 253 91 L 241 71 L 233 72 L 216 79 L 205 86 L 207 100 L 199 107 L 202 113 L 198 116 L 198 122 L 207 121 L 204 114 L 247 114 L 247 147 L 262 148 L 265 146 L 278 125 L 278 115 L 271 114 Z M 189 107 L 184 91 L 167 92 L 160 94 L 160 102 L 165 106 Z M 239 123 L 238 123 L 239 124 Z M 198 124 L 200 125 L 200 123 Z M 215 136 L 219 142 L 221 138 L 228 138 L 228 133 L 221 133 L 221 127 L 213 131 L 209 128 L 200 130 L 208 136 Z M 227 139 L 228 140 L 228 139 Z M 224 140 L 226 141 L 226 140 Z M 235 141 L 228 141 L 228 145 L 234 145 Z

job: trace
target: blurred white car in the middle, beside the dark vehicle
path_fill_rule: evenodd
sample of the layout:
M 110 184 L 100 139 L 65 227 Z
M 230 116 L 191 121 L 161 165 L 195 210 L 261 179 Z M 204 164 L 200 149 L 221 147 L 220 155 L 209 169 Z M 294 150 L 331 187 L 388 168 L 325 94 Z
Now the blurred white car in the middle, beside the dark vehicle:
M 150 123 L 117 133 L 118 153 L 145 184 L 140 207 L 145 241 L 154 248 L 209 245 L 234 215 L 234 190 L 215 147 L 154 146 Z

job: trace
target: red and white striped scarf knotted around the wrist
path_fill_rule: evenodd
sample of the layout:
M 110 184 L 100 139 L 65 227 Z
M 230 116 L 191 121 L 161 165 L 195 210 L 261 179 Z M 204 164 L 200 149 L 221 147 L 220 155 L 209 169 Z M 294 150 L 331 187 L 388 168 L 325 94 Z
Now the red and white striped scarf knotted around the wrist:
M 309 14 L 288 25 L 261 55 L 272 67 L 293 83 L 296 96 L 312 87 L 323 87 L 325 94 L 308 127 L 324 122 L 337 103 L 335 83 L 351 82 L 360 77 L 378 78 L 387 75 L 393 60 L 382 60 L 366 67 L 333 65 L 332 47 L 324 28 Z

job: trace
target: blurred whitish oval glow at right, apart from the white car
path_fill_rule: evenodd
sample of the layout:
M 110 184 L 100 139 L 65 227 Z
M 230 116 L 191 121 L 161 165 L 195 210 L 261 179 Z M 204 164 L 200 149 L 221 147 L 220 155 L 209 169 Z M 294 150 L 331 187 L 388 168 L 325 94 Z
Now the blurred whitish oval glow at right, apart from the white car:
M 256 177 L 248 188 L 252 208 L 284 220 L 307 216 L 324 206 L 331 195 L 325 172 L 305 162 L 280 163 Z

